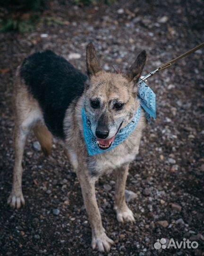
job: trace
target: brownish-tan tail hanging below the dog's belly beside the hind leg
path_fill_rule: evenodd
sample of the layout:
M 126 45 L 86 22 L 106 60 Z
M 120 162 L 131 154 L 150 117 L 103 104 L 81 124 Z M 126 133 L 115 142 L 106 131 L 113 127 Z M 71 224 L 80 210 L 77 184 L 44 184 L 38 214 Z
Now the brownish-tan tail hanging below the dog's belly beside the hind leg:
M 42 123 L 37 123 L 34 126 L 34 134 L 40 142 L 43 153 L 48 156 L 51 154 L 52 135 L 48 128 Z

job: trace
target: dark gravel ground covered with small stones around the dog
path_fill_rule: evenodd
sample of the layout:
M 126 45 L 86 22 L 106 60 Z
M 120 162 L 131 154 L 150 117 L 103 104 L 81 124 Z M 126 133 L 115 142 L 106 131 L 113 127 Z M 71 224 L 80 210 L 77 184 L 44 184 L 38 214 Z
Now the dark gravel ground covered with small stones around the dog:
M 7 206 L 17 65 L 30 53 L 51 49 L 85 71 L 85 46 L 93 41 L 110 71 L 112 64 L 125 71 L 145 49 L 145 74 L 204 41 L 204 4 L 122 0 L 81 8 L 68 1 L 51 3 L 34 32 L 0 34 L 0 255 L 102 256 L 90 247 L 79 183 L 58 143 L 45 158 L 33 135 L 29 137 L 23 161 L 26 206 Z M 108 256 L 204 255 L 203 54 L 199 50 L 148 81 L 157 94 L 157 119 L 144 131 L 127 180 L 127 190 L 135 193 L 127 199 L 136 223 L 117 222 L 112 175 L 96 186 L 104 228 L 116 242 Z M 160 238 L 189 238 L 199 247 L 155 250 L 153 244 Z

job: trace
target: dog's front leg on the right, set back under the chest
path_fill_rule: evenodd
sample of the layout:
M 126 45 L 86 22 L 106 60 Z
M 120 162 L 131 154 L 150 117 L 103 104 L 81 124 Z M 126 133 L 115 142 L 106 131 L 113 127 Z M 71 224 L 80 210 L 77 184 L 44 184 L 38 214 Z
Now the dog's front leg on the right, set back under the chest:
M 125 186 L 127 180 L 129 164 L 118 168 L 116 173 L 116 189 L 115 189 L 115 205 L 114 209 L 117 213 L 119 222 L 130 221 L 134 222 L 133 212 L 127 207 L 125 201 Z

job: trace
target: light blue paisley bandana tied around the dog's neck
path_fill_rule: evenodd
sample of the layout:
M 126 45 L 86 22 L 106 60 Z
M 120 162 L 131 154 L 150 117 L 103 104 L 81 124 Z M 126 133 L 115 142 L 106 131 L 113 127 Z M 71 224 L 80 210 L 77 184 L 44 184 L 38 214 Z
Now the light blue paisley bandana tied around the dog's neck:
M 156 119 L 156 95 L 152 89 L 141 80 L 138 85 L 138 98 L 141 106 L 139 106 L 136 111 L 133 120 L 126 127 L 119 130 L 110 148 L 105 150 L 98 146 L 96 137 L 93 135 L 91 129 L 91 123 L 86 116 L 85 108 L 82 109 L 84 138 L 89 155 L 98 155 L 108 152 L 121 144 L 136 129 L 141 116 L 141 107 L 145 111 L 148 122 L 151 121 L 151 118 Z

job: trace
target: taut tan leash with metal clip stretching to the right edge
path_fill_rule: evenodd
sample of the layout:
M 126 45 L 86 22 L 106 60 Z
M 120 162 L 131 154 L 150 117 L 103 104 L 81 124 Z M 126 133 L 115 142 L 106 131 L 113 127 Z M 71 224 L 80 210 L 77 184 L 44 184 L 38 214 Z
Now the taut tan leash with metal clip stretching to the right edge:
M 194 53 L 195 51 L 197 51 L 197 50 L 199 50 L 199 49 L 201 49 L 201 48 L 203 48 L 203 47 L 204 47 L 204 43 L 200 44 L 199 46 L 195 46 L 193 49 L 187 51 L 186 53 L 184 53 L 184 54 L 182 54 L 182 55 L 179 55 L 179 56 L 176 57 L 175 59 L 172 59 L 171 61 L 168 61 L 168 62 L 165 63 L 165 64 L 162 64 L 161 66 L 159 66 L 159 67 L 158 67 L 157 69 L 155 69 L 154 71 L 152 71 L 152 72 L 148 73 L 147 75 L 141 77 L 140 80 L 142 80 L 143 82 L 144 82 L 144 81 L 146 82 L 146 80 L 147 80 L 149 77 L 153 76 L 155 73 L 158 73 L 158 72 L 160 72 L 161 70 L 164 70 L 164 69 L 170 67 L 170 66 L 171 66 L 173 63 L 175 63 L 176 61 L 178 61 L 178 60 L 180 60 L 180 59 L 182 59 L 182 58 L 185 58 L 186 56 L 188 56 L 188 55 Z

